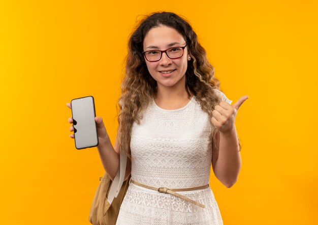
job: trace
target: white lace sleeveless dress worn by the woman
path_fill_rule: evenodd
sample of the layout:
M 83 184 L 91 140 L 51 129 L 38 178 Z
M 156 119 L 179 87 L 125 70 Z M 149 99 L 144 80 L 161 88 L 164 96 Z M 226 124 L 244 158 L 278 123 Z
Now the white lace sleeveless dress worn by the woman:
M 216 90 L 222 100 L 229 100 Z M 132 179 L 154 187 L 185 188 L 209 184 L 212 149 L 210 118 L 196 97 L 176 110 L 154 101 L 141 123 L 133 124 Z M 130 184 L 116 225 L 223 224 L 210 187 L 179 191 L 205 205 L 201 208 L 169 193 Z

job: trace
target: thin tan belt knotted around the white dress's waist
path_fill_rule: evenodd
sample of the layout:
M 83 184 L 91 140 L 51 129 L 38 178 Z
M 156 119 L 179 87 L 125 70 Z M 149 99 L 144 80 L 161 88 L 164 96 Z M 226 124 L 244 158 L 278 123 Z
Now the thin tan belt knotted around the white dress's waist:
M 173 195 L 175 195 L 175 196 L 177 196 L 177 197 L 179 197 L 179 198 L 181 198 L 183 200 L 186 200 L 186 201 L 188 201 L 190 203 L 193 203 L 193 204 L 195 204 L 197 206 L 205 208 L 205 205 L 203 205 L 201 203 L 198 203 L 198 202 L 196 202 L 196 201 L 194 201 L 192 199 L 189 199 L 189 198 L 187 198 L 184 195 L 178 194 L 175 191 L 189 191 L 189 190 L 204 189 L 204 188 L 209 187 L 209 184 L 206 184 L 206 185 L 203 185 L 203 186 L 197 186 L 197 187 L 187 187 L 187 188 L 167 188 L 167 187 L 159 187 L 159 188 L 157 188 L 157 187 L 152 187 L 152 186 L 149 186 L 149 185 L 146 185 L 146 184 L 139 183 L 139 182 L 134 181 L 132 179 L 130 180 L 130 182 L 132 182 L 132 183 L 134 183 L 134 184 L 136 184 L 138 186 L 141 186 L 141 187 L 145 187 L 145 188 L 148 188 L 148 189 L 151 189 L 151 190 L 156 190 L 156 191 L 161 192 L 161 193 L 173 194 Z

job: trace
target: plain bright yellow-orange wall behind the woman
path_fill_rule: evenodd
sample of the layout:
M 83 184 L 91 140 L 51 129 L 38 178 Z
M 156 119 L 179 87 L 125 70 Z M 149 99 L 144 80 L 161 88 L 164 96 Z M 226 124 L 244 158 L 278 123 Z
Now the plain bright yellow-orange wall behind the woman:
M 112 3 L 108 3 L 112 2 Z M 1 1 L 0 223 L 89 224 L 104 174 L 76 150 L 66 102 L 92 95 L 114 140 L 136 19 L 184 15 L 236 102 L 242 169 L 211 174 L 225 224 L 317 224 L 317 1 Z

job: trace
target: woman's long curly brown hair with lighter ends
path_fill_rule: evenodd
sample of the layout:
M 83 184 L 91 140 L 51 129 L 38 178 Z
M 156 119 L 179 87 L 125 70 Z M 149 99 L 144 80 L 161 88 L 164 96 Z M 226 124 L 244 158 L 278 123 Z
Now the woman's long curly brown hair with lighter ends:
M 192 92 L 200 102 L 201 108 L 210 117 L 212 117 L 214 106 L 221 101 L 213 91 L 213 89 L 219 90 L 219 81 L 213 77 L 214 68 L 208 62 L 206 51 L 199 44 L 197 35 L 189 22 L 171 12 L 155 12 L 144 17 L 129 37 L 121 97 L 118 100 L 119 107 L 117 107 L 119 109 L 120 151 L 124 151 L 129 158 L 131 158 L 132 125 L 134 122 L 140 123 L 143 110 L 152 101 L 157 87 L 142 54 L 143 40 L 150 29 L 160 25 L 174 28 L 183 36 L 187 44 L 191 57 L 185 72 L 185 89 L 188 96 L 190 97 L 190 92 Z M 216 128 L 211 121 L 210 123 L 212 125 L 212 144 L 215 143 Z

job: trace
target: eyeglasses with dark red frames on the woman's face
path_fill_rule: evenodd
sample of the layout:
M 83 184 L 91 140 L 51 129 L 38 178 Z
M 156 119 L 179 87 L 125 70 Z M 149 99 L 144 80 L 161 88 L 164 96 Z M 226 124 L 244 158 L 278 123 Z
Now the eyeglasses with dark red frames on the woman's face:
M 170 59 L 178 59 L 182 57 L 185 47 L 186 44 L 183 47 L 172 47 L 166 50 L 149 50 L 142 53 L 145 55 L 146 60 L 148 60 L 149 62 L 156 62 L 161 60 L 163 52 L 166 52 L 167 56 Z

